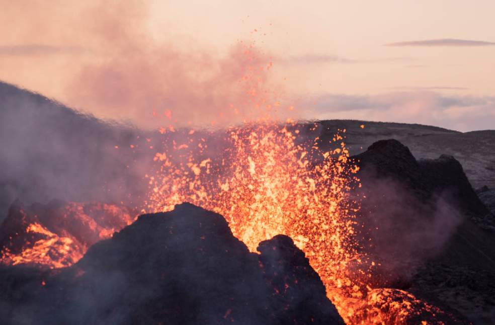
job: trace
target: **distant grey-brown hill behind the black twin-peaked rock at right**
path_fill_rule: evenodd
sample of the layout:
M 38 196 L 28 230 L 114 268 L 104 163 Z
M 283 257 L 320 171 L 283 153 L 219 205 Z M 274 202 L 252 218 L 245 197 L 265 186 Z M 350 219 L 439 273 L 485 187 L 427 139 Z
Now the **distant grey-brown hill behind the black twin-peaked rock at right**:
M 378 140 L 397 139 L 409 147 L 417 159 L 454 156 L 461 162 L 474 188 L 495 188 L 495 130 L 458 132 L 420 124 L 367 122 L 356 120 L 321 121 L 326 136 L 347 129 L 346 144 L 351 154 L 365 151 Z M 360 125 L 364 125 L 361 129 Z M 323 139 L 325 137 L 322 137 Z

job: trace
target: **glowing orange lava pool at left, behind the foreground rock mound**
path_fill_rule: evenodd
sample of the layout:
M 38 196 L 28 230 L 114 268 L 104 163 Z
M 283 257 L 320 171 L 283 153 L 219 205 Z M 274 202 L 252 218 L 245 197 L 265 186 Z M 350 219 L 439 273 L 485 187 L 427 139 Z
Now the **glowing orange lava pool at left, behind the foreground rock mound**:
M 95 242 L 110 238 L 135 216 L 124 206 L 105 203 L 14 206 L 2 224 L 0 263 L 51 269 L 70 266 Z

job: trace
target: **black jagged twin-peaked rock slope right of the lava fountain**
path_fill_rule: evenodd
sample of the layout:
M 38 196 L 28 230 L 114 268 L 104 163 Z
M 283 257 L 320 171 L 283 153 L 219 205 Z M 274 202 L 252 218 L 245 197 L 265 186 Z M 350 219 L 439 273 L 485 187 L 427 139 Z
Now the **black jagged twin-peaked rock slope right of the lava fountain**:
M 363 249 L 382 262 L 376 284 L 407 289 L 460 319 L 492 321 L 495 240 L 482 229 L 489 211 L 459 162 L 448 155 L 416 160 L 393 139 L 354 158 L 366 196 L 362 235 L 372 238 Z

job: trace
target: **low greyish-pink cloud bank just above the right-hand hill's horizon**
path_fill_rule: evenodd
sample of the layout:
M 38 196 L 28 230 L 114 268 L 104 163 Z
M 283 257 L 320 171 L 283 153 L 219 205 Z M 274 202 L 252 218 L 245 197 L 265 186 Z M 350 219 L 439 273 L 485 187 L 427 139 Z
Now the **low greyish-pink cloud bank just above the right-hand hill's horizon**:
M 307 116 L 435 125 L 459 131 L 493 129 L 495 97 L 445 96 L 431 90 L 381 95 L 324 94 L 308 103 Z

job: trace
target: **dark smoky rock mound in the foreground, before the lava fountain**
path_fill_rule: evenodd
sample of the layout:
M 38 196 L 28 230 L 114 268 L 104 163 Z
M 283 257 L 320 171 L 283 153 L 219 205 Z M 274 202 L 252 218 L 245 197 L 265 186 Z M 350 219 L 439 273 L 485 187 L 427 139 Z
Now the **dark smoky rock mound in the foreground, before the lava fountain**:
M 265 241 L 260 251 L 250 253 L 221 215 L 181 204 L 140 216 L 74 266 L 47 276 L 44 286 L 17 276 L 21 283 L 0 293 L 0 317 L 3 323 L 343 323 L 290 238 Z M 20 272 L 2 270 L 0 283 Z

